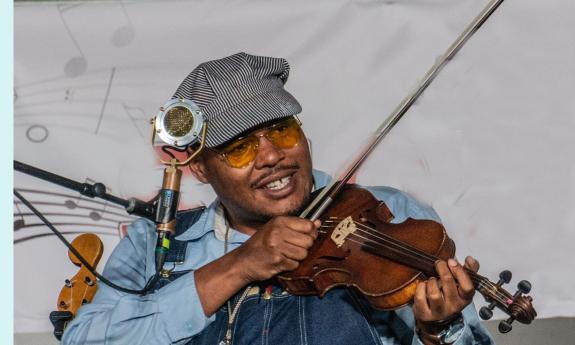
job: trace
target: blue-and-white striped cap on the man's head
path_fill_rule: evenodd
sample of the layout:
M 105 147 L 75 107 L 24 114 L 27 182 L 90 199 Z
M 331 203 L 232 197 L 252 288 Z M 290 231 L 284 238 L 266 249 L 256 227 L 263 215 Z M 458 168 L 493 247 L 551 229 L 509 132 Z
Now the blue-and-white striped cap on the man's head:
M 196 67 L 172 98 L 190 99 L 208 120 L 206 146 L 215 147 L 237 135 L 301 112 L 284 89 L 289 64 L 285 59 L 238 53 Z

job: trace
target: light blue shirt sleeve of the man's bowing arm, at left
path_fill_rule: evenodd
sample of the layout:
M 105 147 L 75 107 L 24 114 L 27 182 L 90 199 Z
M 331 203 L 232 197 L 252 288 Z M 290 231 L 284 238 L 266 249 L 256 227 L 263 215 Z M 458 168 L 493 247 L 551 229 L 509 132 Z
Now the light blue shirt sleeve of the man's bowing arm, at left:
M 137 220 L 114 249 L 104 276 L 119 286 L 142 289 L 154 274 L 154 246 L 153 223 Z M 78 310 L 62 344 L 177 344 L 214 319 L 204 315 L 193 271 L 145 296 L 99 282 L 94 300 Z

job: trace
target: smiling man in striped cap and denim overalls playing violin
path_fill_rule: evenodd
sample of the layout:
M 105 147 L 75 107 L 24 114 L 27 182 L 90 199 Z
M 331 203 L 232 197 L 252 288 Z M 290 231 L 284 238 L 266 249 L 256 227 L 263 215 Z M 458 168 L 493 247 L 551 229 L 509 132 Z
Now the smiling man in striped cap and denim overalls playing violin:
M 217 199 L 178 215 L 178 246 L 145 296 L 100 285 L 68 326 L 63 344 L 492 344 L 472 304 L 474 287 L 456 260 L 417 285 L 413 304 L 374 309 L 353 289 L 294 296 L 274 277 L 308 255 L 319 221 L 298 218 L 310 193 L 329 182 L 312 169 L 306 137 L 284 88 L 284 59 L 235 54 L 199 65 L 174 98 L 208 118 L 206 149 L 190 164 Z M 439 221 L 428 206 L 389 187 L 367 188 L 394 223 Z M 104 275 L 142 288 L 154 274 L 155 226 L 131 225 Z M 172 255 L 173 254 L 173 255 Z M 466 258 L 465 267 L 479 264 Z

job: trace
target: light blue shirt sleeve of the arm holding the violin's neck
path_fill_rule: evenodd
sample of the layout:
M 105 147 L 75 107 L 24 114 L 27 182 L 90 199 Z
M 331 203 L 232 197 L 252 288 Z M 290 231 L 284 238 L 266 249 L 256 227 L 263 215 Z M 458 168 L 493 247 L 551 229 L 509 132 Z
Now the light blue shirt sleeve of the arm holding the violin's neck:
M 441 222 L 430 206 L 421 204 L 412 196 L 390 187 L 368 187 L 374 196 L 385 202 L 394 215 L 393 223 L 401 223 L 407 218 L 427 219 Z M 462 311 L 463 332 L 454 345 L 492 345 L 495 344 L 487 329 L 481 324 L 473 303 Z M 376 312 L 373 315 L 376 328 L 384 344 L 423 345 L 415 330 L 415 318 L 411 305 L 394 312 Z

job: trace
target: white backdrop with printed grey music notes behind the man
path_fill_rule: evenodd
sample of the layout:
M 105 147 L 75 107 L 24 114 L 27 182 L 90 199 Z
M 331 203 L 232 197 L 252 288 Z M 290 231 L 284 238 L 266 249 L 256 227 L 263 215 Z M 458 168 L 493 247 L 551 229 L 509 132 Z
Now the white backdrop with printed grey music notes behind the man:
M 16 3 L 15 159 L 121 197 L 150 198 L 161 167 L 148 120 L 200 62 L 288 59 L 315 166 L 335 172 L 485 0 Z M 507 0 L 358 174 L 432 204 L 496 280 L 528 279 L 540 317 L 575 316 L 575 2 Z M 105 258 L 131 217 L 15 173 L 15 187 Z M 189 176 L 182 207 L 212 193 Z M 14 203 L 15 331 L 49 331 L 66 249 Z M 104 262 L 103 261 L 103 262 Z M 103 263 L 100 264 L 100 267 Z M 509 286 L 514 291 L 513 286 Z M 476 303 L 480 303 L 480 299 Z M 501 314 L 496 314 L 501 317 Z

